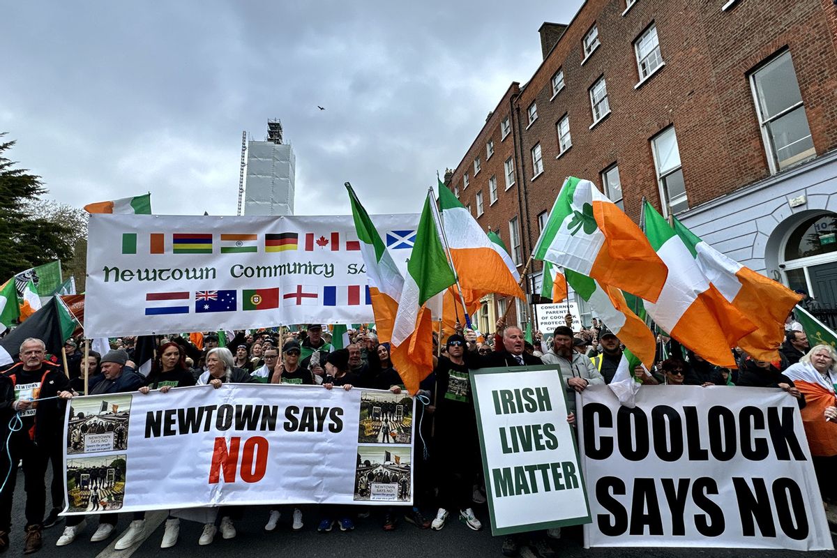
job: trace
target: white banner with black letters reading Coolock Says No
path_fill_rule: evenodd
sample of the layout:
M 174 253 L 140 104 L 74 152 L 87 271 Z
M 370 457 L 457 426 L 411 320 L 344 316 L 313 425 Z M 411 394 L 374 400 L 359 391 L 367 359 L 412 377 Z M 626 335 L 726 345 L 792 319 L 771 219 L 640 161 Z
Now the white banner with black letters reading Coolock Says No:
M 759 387 L 607 386 L 578 397 L 589 546 L 831 550 L 802 417 Z

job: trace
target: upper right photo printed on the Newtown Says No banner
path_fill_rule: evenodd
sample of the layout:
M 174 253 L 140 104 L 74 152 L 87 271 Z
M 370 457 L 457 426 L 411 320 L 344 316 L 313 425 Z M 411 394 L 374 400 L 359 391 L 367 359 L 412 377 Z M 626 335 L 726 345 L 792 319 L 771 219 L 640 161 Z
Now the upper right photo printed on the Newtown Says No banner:
M 361 392 L 358 443 L 411 443 L 413 399 L 406 393 Z

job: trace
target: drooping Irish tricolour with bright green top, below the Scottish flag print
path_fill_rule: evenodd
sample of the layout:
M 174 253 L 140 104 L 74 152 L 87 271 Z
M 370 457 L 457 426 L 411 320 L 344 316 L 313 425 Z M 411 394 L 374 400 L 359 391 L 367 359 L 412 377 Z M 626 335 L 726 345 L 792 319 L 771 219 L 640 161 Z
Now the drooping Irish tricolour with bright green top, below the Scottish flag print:
M 433 203 L 430 195 L 424 201 L 413 253 L 407 263 L 407 276 L 393 325 L 391 357 L 404 386 L 410 393 L 419 389 L 422 381 L 433 370 L 433 325 L 427 302 L 454 284 L 439 240 Z M 380 331 L 380 320 L 375 318 Z

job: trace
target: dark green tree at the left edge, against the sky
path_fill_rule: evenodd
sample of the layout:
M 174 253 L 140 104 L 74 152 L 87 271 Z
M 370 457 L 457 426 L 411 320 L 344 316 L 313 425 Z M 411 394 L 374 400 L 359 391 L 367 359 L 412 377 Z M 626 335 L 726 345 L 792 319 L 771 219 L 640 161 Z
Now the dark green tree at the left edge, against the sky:
M 72 234 L 68 225 L 28 212 L 28 203 L 47 189 L 40 177 L 13 168 L 17 163 L 5 156 L 13 145 L 14 141 L 0 141 L 0 281 L 35 265 L 69 259 L 73 253 L 67 241 Z

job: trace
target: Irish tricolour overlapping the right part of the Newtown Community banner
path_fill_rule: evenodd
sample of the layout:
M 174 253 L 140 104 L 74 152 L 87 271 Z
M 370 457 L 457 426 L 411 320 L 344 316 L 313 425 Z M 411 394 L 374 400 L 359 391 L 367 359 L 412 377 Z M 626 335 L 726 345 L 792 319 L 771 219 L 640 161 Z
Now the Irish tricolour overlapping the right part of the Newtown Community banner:
M 378 340 L 386 343 L 393 335 L 398 300 L 404 286 L 404 279 L 398 271 L 393 257 L 389 255 L 381 235 L 377 233 L 372 219 L 357 199 L 355 191 L 347 184 L 349 201 L 352 202 L 352 217 L 355 221 L 357 238 L 360 239 L 363 264 L 366 266 L 369 298 L 372 299 L 372 313 L 377 324 Z

